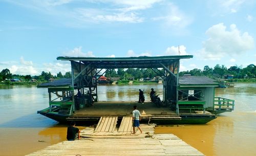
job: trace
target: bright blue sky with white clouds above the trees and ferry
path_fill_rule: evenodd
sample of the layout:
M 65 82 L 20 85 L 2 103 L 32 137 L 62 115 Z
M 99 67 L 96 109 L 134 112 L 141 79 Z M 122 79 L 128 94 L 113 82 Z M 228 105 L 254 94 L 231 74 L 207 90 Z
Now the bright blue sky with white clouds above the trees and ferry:
M 181 71 L 256 64 L 256 2 L 0 1 L 0 70 L 70 71 L 58 56 L 194 55 Z

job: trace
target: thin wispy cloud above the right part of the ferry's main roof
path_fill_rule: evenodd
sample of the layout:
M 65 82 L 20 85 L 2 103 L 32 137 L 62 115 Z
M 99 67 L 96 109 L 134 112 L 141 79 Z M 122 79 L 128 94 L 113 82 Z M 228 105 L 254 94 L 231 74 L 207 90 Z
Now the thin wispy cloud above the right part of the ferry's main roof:
M 193 18 L 183 13 L 174 4 L 169 4 L 165 16 L 154 17 L 153 20 L 164 20 L 165 26 L 174 29 L 185 28 L 193 22 Z

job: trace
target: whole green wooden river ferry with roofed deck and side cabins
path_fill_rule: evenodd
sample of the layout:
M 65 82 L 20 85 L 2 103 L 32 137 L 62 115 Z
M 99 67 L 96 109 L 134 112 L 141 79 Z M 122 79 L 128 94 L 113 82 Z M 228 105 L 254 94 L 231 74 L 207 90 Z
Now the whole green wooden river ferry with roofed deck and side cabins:
M 132 116 L 132 107 L 137 105 L 142 115 L 141 122 L 144 123 L 203 124 L 216 119 L 216 114 L 231 112 L 234 101 L 215 97 L 218 83 L 213 79 L 179 77 L 180 59 L 192 57 L 57 57 L 57 60 L 71 62 L 72 78 L 38 85 L 48 87 L 49 107 L 37 113 L 59 122 L 79 121 L 92 124 L 99 122 L 101 117 L 110 116 L 116 117 L 118 122 L 123 117 Z M 156 72 L 163 79 L 164 106 L 156 107 L 151 101 L 100 101 L 97 79 L 94 77 L 102 69 L 118 68 L 150 68 Z M 78 89 L 81 94 L 76 95 Z

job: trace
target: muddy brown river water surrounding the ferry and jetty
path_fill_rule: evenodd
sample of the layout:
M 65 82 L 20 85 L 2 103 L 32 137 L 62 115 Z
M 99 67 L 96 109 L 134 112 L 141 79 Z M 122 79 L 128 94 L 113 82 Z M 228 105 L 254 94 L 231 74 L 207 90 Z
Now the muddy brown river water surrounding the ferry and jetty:
M 162 94 L 161 84 L 102 85 L 99 100 L 136 101 L 139 88 L 149 99 L 152 87 Z M 256 83 L 216 88 L 216 96 L 235 100 L 235 110 L 203 125 L 158 125 L 156 133 L 174 133 L 205 155 L 256 155 Z M 0 155 L 26 155 L 66 140 L 67 125 L 36 114 L 46 107 L 47 88 L 0 85 Z

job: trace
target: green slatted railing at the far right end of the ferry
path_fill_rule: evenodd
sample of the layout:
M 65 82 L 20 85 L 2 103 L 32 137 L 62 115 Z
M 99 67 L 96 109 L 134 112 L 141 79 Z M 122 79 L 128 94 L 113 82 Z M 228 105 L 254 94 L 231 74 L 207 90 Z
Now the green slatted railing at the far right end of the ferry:
M 234 100 L 215 97 L 214 98 L 214 106 L 217 106 L 218 110 L 221 109 L 231 109 L 234 110 Z

